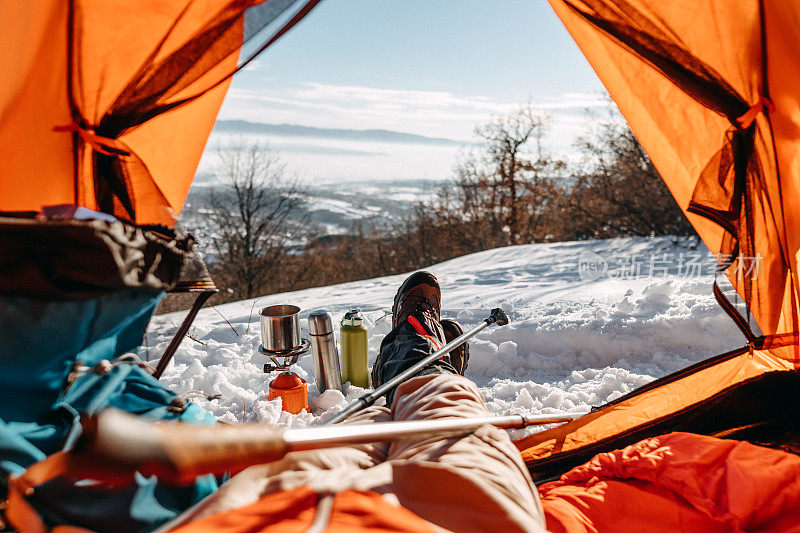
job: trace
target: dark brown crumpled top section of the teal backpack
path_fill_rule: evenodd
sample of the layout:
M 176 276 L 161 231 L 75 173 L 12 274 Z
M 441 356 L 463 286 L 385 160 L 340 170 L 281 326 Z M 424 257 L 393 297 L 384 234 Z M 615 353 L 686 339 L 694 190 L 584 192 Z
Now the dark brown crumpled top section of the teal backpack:
M 175 286 L 192 238 L 121 221 L 0 217 L 0 294 L 82 300 Z

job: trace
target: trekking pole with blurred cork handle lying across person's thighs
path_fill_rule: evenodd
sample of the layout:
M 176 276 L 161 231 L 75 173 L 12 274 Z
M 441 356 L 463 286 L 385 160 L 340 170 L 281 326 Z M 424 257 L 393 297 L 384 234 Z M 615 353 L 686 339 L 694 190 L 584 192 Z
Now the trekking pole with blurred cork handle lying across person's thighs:
M 266 424 L 202 426 L 145 421 L 108 409 L 84 421 L 83 434 L 69 453 L 73 475 L 130 481 L 133 472 L 188 483 L 203 474 L 237 472 L 282 458 L 289 452 L 368 442 L 452 437 L 485 424 L 513 429 L 574 420 L 586 413 L 537 416 L 448 418 L 282 429 Z

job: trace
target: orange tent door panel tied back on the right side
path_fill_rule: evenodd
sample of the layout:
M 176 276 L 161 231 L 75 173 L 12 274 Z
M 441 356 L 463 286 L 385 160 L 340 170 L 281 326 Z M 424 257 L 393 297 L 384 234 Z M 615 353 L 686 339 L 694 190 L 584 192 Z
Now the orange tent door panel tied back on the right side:
M 720 254 L 750 340 L 800 363 L 800 4 L 549 1 Z

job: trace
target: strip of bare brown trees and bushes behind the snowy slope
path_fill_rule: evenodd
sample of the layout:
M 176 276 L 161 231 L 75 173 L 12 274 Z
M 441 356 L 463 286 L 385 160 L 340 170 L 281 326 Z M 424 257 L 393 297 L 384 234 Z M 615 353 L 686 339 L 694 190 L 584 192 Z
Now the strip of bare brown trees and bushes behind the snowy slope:
M 527 105 L 475 128 L 453 174 L 393 219 L 360 218 L 325 234 L 314 199 L 280 153 L 236 139 L 220 149 L 200 223 L 222 292 L 212 303 L 409 272 L 516 244 L 694 235 L 642 147 L 608 100 L 567 162 L 543 146 L 549 117 Z M 189 210 L 191 213 L 191 210 Z M 298 214 L 299 213 L 299 214 Z M 696 245 L 696 243 L 694 244 Z M 162 311 L 188 307 L 169 297 Z

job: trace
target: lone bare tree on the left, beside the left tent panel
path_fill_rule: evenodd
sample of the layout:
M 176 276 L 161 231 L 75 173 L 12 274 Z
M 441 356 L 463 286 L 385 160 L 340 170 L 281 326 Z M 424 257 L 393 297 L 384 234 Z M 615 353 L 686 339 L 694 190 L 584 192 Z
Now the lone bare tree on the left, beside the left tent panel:
M 306 195 L 266 146 L 237 141 L 217 150 L 210 222 L 216 230 L 216 266 L 239 297 L 274 287 L 283 256 L 302 245 Z

